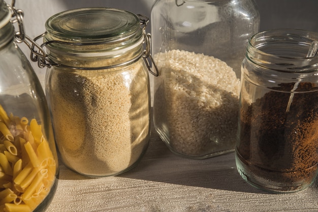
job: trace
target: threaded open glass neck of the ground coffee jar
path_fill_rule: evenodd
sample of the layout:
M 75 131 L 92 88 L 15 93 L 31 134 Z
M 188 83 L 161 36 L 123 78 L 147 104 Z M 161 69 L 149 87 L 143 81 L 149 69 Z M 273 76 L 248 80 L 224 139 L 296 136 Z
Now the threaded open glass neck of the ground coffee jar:
M 252 36 L 246 59 L 264 69 L 308 73 L 317 71 L 318 56 L 306 57 L 318 33 L 298 29 L 273 29 Z

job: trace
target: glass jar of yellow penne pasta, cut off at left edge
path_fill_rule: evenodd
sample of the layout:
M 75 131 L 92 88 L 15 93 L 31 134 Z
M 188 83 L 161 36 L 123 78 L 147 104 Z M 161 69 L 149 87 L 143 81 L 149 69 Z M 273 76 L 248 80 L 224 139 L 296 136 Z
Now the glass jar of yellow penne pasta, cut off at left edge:
M 0 211 L 45 211 L 57 154 L 45 95 L 17 46 L 23 32 L 15 34 L 12 16 L 21 26 L 21 10 L 0 0 Z

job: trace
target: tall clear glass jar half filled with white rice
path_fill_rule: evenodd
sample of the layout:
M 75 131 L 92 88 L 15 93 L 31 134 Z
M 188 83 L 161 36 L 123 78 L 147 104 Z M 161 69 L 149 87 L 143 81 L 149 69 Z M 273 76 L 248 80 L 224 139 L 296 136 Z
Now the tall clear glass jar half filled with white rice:
M 234 152 L 240 66 L 258 32 L 253 1 L 157 0 L 151 11 L 153 119 L 173 153 L 204 159 Z

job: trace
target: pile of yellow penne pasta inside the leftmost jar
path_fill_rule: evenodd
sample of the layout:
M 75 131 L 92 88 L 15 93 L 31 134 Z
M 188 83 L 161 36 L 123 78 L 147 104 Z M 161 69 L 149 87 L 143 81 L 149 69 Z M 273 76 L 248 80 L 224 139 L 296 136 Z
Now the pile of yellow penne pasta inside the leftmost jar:
M 0 105 L 0 212 L 33 211 L 48 195 L 56 172 L 42 126 L 36 119 L 8 116 Z

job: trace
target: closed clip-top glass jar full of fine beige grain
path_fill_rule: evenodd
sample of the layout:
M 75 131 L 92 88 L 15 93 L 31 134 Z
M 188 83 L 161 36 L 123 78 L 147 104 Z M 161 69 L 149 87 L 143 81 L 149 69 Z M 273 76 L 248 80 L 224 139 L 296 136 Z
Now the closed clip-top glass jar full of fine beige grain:
M 57 148 L 63 163 L 80 174 L 120 174 L 146 151 L 150 86 L 143 18 L 83 8 L 46 21 L 51 67 L 45 87 Z

